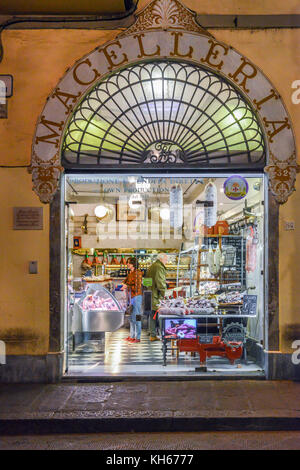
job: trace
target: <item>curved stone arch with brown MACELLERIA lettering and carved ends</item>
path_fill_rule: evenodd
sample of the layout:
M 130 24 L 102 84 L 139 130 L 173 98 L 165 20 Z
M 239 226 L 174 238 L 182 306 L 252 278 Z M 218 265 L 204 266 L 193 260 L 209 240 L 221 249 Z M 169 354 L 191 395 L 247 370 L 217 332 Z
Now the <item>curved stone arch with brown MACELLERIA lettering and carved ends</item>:
M 178 0 L 154 0 L 128 30 L 77 61 L 51 92 L 32 146 L 30 172 L 40 200 L 49 203 L 56 192 L 63 172 L 63 136 L 78 103 L 113 71 L 149 59 L 204 66 L 241 91 L 264 129 L 270 190 L 278 203 L 286 202 L 298 166 L 292 124 L 279 93 L 251 61 L 201 28 L 195 14 Z

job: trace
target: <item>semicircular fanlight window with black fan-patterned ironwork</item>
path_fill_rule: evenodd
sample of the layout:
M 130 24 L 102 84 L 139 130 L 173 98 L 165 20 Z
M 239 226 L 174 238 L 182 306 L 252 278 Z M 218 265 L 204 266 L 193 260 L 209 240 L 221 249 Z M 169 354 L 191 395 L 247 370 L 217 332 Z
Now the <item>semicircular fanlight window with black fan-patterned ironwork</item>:
M 65 167 L 265 164 L 255 112 L 227 80 L 193 64 L 144 62 L 100 81 L 77 106 Z

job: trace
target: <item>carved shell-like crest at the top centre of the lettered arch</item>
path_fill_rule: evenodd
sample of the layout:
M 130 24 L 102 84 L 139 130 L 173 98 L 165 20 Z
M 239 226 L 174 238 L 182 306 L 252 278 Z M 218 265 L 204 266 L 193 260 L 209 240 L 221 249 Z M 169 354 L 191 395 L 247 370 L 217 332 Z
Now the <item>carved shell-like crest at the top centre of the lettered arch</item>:
M 197 23 L 196 16 L 179 0 L 155 0 L 138 14 L 136 22 L 120 36 L 149 29 L 182 29 L 212 36 Z

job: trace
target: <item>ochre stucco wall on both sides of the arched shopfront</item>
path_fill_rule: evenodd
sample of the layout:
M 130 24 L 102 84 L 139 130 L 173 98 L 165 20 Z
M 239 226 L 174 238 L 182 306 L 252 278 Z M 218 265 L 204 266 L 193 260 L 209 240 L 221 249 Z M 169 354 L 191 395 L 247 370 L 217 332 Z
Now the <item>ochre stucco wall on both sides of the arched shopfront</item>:
M 196 2 L 186 2 L 196 8 Z M 259 5 L 259 2 L 256 2 Z M 296 2 L 295 2 L 296 3 Z M 142 2 L 141 2 L 142 4 Z M 204 8 L 205 2 L 202 4 Z M 218 13 L 231 13 L 219 11 Z M 240 11 L 240 13 L 243 13 Z M 300 79 L 298 30 L 211 31 L 259 66 L 283 97 L 300 137 L 300 105 L 291 101 L 291 84 Z M 45 100 L 65 70 L 96 46 L 114 38 L 118 31 L 88 30 L 8 30 L 3 33 L 4 59 L 0 74 L 14 76 L 14 96 L 9 99 L 8 119 L 0 120 L 0 165 L 29 165 L 35 124 Z M 44 206 L 42 232 L 15 232 L 11 229 L 12 207 L 40 205 L 31 190 L 26 169 L 5 169 L 1 175 L 0 332 L 30 325 L 40 341 L 30 346 L 11 345 L 12 353 L 42 354 L 47 351 L 49 332 L 49 246 L 48 207 Z M 300 188 L 300 184 L 298 184 Z M 281 349 L 290 351 L 284 331 L 288 324 L 300 323 L 300 253 L 297 221 L 300 194 L 295 193 L 280 209 L 280 324 Z M 284 220 L 294 220 L 296 230 L 283 230 Z M 26 263 L 39 261 L 40 273 L 27 274 Z M 15 289 L 18 284 L 19 291 Z

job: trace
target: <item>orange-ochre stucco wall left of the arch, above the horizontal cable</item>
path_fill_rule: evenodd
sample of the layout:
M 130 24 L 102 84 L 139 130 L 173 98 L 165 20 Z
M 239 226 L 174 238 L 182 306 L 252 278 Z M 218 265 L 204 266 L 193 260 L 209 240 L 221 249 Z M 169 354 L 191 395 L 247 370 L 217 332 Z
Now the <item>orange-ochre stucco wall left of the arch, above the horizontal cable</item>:
M 66 69 L 116 31 L 6 31 L 0 74 L 14 77 L 8 119 L 0 120 L 0 165 L 28 165 L 37 118 Z

